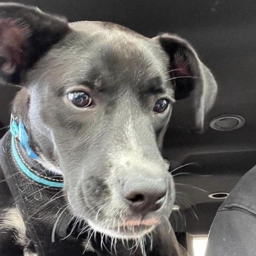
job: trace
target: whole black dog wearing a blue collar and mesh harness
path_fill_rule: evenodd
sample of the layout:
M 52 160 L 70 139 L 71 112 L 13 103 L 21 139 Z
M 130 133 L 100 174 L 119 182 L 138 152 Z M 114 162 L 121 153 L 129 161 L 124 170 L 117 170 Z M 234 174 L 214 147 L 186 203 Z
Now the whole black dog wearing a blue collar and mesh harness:
M 186 255 L 161 156 L 175 100 L 203 129 L 216 84 L 183 39 L 0 4 L 0 83 L 23 89 L 1 143 L 0 255 Z

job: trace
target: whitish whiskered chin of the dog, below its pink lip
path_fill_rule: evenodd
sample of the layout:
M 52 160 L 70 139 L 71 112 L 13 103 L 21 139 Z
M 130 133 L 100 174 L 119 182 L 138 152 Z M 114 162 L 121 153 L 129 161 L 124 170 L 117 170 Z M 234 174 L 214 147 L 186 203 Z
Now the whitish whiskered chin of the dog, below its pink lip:
M 139 239 L 154 231 L 156 224 L 153 225 L 133 225 L 133 226 L 119 226 L 106 228 L 100 223 L 87 220 L 87 224 L 94 230 L 101 234 L 105 234 L 111 238 L 119 239 Z

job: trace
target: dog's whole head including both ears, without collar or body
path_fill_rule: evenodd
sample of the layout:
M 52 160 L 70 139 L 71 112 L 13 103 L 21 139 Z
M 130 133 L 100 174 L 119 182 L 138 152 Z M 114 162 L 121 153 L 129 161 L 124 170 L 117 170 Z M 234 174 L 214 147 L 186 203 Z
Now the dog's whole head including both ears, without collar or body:
M 175 193 L 161 146 L 173 103 L 193 92 L 202 130 L 216 94 L 186 41 L 1 4 L 0 77 L 24 87 L 13 111 L 42 164 L 63 175 L 74 215 L 126 238 L 169 217 Z

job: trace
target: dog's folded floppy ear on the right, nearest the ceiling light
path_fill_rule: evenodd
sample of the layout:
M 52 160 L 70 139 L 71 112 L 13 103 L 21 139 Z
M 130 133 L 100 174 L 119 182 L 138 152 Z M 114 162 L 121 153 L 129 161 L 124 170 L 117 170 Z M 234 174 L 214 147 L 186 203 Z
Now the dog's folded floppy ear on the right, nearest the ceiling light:
M 204 130 L 206 114 L 217 95 L 217 83 L 211 71 L 199 60 L 193 47 L 184 39 L 170 34 L 154 37 L 169 57 L 168 73 L 175 86 L 175 99 L 194 97 L 196 126 Z

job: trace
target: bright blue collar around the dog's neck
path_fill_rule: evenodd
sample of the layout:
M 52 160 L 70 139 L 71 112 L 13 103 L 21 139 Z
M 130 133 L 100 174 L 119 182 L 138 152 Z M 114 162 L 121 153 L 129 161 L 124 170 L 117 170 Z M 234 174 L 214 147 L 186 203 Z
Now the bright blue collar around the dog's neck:
M 15 161 L 20 167 L 20 170 L 25 173 L 30 179 L 36 181 L 37 183 L 41 183 L 42 185 L 50 186 L 50 187 L 57 187 L 62 188 L 63 187 L 63 181 L 59 180 L 59 182 L 55 182 L 52 180 L 57 179 L 51 179 L 47 178 L 44 175 L 37 175 L 36 172 L 33 172 L 32 169 L 27 167 L 27 164 L 24 162 L 23 158 L 20 156 L 18 149 L 15 145 L 16 139 L 19 139 L 20 145 L 26 150 L 26 153 L 30 158 L 39 160 L 38 155 L 34 152 L 33 149 L 29 147 L 29 141 L 28 141 L 28 134 L 26 132 L 25 126 L 21 121 L 21 118 L 19 118 L 19 124 L 15 121 L 13 116 L 11 116 L 11 124 L 10 124 L 10 132 L 12 134 L 12 153 Z M 51 172 L 51 171 L 50 171 Z M 54 173 L 54 172 L 52 172 Z

